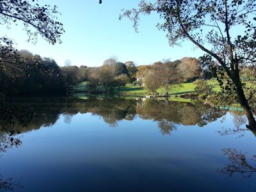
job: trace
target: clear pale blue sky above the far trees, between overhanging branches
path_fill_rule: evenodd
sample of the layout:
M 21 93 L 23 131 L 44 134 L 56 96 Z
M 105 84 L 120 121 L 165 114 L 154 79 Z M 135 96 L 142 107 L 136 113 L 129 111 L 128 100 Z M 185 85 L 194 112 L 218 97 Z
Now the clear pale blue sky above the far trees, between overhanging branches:
M 127 18 L 118 20 L 122 8 L 136 7 L 139 0 L 39 0 L 38 4 L 56 4 L 61 12 L 60 20 L 65 28 L 62 44 L 51 45 L 41 37 L 37 44 L 26 42 L 22 25 L 6 29 L 0 26 L 1 36 L 8 35 L 17 43 L 18 49 L 50 57 L 62 66 L 65 60 L 72 65 L 99 66 L 110 56 L 119 61 L 134 61 L 137 65 L 151 64 L 163 59 L 177 60 L 185 56 L 199 57 L 204 53 L 194 50 L 190 42 L 182 47 L 170 47 L 166 33 L 156 28 L 159 17 L 142 17 L 139 31 L 132 28 Z

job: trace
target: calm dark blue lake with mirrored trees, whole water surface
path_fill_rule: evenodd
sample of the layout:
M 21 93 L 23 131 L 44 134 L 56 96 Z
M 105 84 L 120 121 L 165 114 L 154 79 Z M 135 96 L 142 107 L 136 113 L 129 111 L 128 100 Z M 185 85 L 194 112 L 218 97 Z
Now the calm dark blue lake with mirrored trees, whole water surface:
M 0 191 L 256 191 L 256 138 L 241 112 L 24 97 L 4 104 L 0 123 Z

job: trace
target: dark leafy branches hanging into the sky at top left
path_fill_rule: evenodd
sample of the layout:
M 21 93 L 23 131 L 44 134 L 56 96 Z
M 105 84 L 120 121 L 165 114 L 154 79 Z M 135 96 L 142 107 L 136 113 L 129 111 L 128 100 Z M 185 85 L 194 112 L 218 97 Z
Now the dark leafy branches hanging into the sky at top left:
M 41 35 L 47 42 L 56 44 L 61 42 L 60 36 L 64 33 L 63 24 L 56 19 L 58 15 L 57 7 L 49 5 L 40 6 L 31 1 L 2 0 L 0 3 L 1 24 L 7 28 L 12 23 L 18 21 L 24 25 L 24 30 L 28 34 L 28 40 L 36 40 L 37 35 Z

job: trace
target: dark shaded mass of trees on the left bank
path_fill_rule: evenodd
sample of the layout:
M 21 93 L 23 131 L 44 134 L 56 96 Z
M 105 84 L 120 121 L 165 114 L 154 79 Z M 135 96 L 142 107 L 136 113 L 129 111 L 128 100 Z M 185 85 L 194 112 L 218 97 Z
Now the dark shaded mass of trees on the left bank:
M 16 54 L 19 57 L 17 65 L 5 62 L 0 65 L 1 92 L 12 95 L 63 91 L 63 79 L 56 61 L 26 50 Z

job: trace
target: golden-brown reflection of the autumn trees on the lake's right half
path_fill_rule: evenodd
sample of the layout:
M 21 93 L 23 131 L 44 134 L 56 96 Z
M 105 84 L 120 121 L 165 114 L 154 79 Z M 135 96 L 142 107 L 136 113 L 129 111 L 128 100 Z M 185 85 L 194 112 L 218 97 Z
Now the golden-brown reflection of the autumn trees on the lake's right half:
M 174 124 L 198 125 L 200 127 L 215 121 L 225 115 L 227 111 L 211 108 L 210 106 L 196 101 L 186 102 L 163 102 L 146 100 L 136 106 L 136 112 L 143 119 L 153 119 L 157 122 L 167 121 Z

